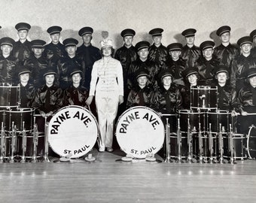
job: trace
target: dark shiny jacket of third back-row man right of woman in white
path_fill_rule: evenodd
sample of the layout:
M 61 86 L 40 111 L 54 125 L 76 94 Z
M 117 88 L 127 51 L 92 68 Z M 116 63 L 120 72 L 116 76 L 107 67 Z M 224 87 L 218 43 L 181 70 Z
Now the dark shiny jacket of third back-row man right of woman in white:
M 181 58 L 186 62 L 186 68 L 194 67 L 195 62 L 197 62 L 197 60 L 200 59 L 200 56 L 200 47 L 197 47 L 195 45 L 190 48 L 187 47 L 186 44 L 181 50 Z

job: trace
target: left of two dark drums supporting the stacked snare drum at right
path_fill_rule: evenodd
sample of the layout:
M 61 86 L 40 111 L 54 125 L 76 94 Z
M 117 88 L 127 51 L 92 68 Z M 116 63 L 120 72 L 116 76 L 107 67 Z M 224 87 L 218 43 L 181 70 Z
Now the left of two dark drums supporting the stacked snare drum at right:
M 189 110 L 181 110 L 179 111 L 179 120 L 180 120 L 180 130 L 181 132 L 187 132 L 188 131 L 188 120 L 190 124 L 190 131 L 194 132 L 204 132 L 205 130 L 205 113 L 204 112 L 193 112 Z M 199 129 L 199 123 L 200 129 Z

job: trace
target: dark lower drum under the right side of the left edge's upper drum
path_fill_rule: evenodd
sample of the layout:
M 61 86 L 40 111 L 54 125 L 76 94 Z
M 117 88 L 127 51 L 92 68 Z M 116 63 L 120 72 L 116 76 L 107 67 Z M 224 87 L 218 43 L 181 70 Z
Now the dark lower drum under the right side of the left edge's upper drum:
M 33 114 L 34 110 L 32 108 L 18 108 L 17 110 L 11 109 L 6 111 L 5 130 L 11 132 L 14 122 L 14 126 L 16 126 L 17 132 L 23 131 L 23 123 L 24 130 L 26 132 L 31 132 L 34 125 Z

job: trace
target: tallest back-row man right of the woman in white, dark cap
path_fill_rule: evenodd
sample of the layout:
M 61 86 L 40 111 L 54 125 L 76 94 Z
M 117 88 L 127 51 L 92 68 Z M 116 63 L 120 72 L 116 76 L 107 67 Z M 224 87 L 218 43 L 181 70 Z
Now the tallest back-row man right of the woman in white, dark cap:
M 221 39 L 221 45 L 215 47 L 214 55 L 222 65 L 230 68 L 230 62 L 239 55 L 239 48 L 230 44 L 230 26 L 221 26 L 216 34 Z

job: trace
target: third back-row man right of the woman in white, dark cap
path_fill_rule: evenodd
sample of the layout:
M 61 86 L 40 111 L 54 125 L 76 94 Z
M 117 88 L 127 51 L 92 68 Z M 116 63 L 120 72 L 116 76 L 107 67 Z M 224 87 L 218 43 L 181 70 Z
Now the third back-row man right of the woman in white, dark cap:
M 200 47 L 194 45 L 196 29 L 185 29 L 181 35 L 186 39 L 186 45 L 182 48 L 181 58 L 186 62 L 186 68 L 194 67 L 195 62 L 200 59 Z

